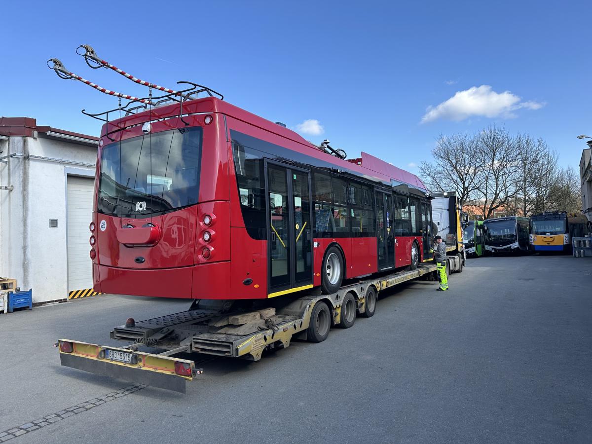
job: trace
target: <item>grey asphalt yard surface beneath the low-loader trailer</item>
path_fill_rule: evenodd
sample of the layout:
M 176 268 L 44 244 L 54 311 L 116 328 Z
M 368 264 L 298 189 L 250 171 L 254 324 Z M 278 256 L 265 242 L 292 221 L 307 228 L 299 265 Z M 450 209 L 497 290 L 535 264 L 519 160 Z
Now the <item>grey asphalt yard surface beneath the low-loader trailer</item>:
M 259 362 L 199 355 L 186 394 L 61 367 L 53 343 L 121 345 L 127 317 L 188 301 L 0 314 L 0 442 L 592 442 L 592 260 L 468 259 L 449 285 L 391 289 L 374 317 Z

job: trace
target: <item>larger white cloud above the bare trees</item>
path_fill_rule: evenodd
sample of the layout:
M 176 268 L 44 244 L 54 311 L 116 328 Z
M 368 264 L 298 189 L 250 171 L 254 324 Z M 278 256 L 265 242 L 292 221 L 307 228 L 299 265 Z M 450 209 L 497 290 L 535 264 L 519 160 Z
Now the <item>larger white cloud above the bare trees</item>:
M 545 105 L 535 101 L 520 102 L 521 99 L 510 91 L 497 93 L 490 85 L 473 86 L 465 91 L 457 91 L 436 107 L 427 107 L 422 123 L 440 118 L 461 121 L 472 116 L 512 118 L 516 117 L 512 111 L 520 108 L 538 110 Z

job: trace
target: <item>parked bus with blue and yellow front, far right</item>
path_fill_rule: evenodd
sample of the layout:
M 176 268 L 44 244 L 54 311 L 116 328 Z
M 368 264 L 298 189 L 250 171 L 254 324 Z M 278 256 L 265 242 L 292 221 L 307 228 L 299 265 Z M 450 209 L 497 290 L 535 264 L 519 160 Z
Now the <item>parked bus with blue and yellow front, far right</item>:
M 530 244 L 535 251 L 571 252 L 571 238 L 587 232 L 588 220 L 583 214 L 543 211 L 530 217 Z

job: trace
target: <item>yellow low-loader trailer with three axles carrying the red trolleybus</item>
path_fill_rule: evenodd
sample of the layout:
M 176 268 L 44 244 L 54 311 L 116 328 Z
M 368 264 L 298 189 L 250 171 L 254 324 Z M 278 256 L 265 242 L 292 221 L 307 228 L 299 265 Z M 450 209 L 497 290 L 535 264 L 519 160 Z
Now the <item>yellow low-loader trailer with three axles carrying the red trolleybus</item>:
M 188 311 L 138 322 L 129 318 L 115 327 L 111 338 L 130 345 L 60 339 L 56 347 L 62 365 L 185 393 L 186 381 L 202 370 L 173 355 L 205 353 L 259 361 L 263 351 L 286 348 L 292 338 L 321 342 L 331 327 L 349 328 L 356 316 L 373 316 L 382 290 L 413 279 L 435 279 L 435 271 L 435 264 L 423 263 L 413 271 L 361 279 L 330 295 L 317 290 L 261 301 L 196 300 Z M 142 346 L 165 351 L 141 352 Z

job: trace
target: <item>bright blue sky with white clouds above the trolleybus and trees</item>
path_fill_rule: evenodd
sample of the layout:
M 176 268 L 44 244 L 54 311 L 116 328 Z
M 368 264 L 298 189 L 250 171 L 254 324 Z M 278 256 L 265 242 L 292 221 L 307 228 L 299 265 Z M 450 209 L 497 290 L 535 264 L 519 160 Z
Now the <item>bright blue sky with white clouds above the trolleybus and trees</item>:
M 75 49 L 90 44 L 139 78 L 210 86 L 349 157 L 363 150 L 417 172 L 439 133 L 497 124 L 542 137 L 561 165 L 577 166 L 586 146 L 575 136 L 592 135 L 592 2 L 414 3 L 6 2 L 0 115 L 99 133 L 80 110 L 117 99 L 58 79 L 49 57 L 146 95 L 86 66 Z

